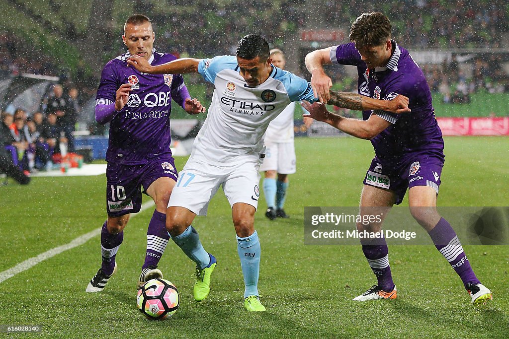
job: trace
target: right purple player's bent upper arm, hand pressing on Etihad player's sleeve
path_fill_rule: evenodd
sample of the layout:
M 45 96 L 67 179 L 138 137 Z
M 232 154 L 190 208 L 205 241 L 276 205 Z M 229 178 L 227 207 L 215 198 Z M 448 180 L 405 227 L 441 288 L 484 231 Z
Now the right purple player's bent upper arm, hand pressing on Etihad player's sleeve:
M 326 104 L 330 99 L 329 89 L 332 87 L 332 80 L 325 74 L 323 65 L 332 64 L 330 59 L 330 49 L 318 49 L 310 52 L 305 57 L 306 68 L 311 73 L 311 87 L 315 98 L 321 103 Z

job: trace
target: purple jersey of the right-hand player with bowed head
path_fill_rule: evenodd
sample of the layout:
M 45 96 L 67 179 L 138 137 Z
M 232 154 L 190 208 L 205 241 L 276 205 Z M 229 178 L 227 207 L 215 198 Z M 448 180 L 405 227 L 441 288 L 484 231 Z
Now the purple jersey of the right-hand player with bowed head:
M 395 49 L 385 67 L 367 69 L 353 42 L 332 47 L 330 58 L 334 64 L 357 66 L 359 94 L 383 100 L 392 100 L 401 94 L 409 99 L 411 113 L 362 112 L 364 120 L 377 114 L 391 123 L 371 140 L 382 163 L 398 165 L 416 155 L 436 156 L 443 161 L 442 131 L 431 104 L 430 87 L 408 51 L 391 41 Z

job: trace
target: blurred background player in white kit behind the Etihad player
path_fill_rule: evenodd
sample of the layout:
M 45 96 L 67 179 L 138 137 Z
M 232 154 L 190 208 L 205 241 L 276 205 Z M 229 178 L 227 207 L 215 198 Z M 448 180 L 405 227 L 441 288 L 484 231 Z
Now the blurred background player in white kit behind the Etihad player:
M 280 49 L 271 49 L 270 57 L 272 58 L 272 65 L 282 70 L 285 69 L 286 58 Z M 270 220 L 290 217 L 283 206 L 289 185 L 288 174 L 293 174 L 296 171 L 293 130 L 294 111 L 295 102 L 291 102 L 270 122 L 267 132 L 265 132 L 265 146 L 267 149 L 260 171 L 265 172 L 262 184 L 265 201 L 267 202 L 265 216 Z M 309 128 L 313 122 L 312 118 L 305 117 L 303 120 L 306 128 Z

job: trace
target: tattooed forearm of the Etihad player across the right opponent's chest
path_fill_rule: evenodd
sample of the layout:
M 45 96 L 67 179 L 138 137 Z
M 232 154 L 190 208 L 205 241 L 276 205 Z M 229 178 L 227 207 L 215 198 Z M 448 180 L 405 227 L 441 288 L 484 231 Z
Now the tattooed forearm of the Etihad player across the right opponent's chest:
M 331 90 L 330 100 L 327 104 L 356 111 L 380 110 L 398 114 L 411 112 L 411 109 L 408 108 L 408 98 L 402 95 L 398 95 L 392 100 L 377 100 L 356 93 Z

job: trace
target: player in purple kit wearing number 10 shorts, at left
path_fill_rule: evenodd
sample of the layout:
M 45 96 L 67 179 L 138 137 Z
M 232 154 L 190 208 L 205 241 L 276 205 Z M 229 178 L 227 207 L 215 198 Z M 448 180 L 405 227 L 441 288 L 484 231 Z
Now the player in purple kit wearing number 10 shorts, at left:
M 87 286 L 87 292 L 102 291 L 117 271 L 115 256 L 124 238 L 130 213 L 142 206 L 142 192 L 155 203 L 147 231 L 147 251 L 137 288 L 144 282 L 162 278 L 157 264 L 166 248 L 166 208 L 178 172 L 175 169 L 169 129 L 172 99 L 189 114 L 205 112 L 205 107 L 189 96 L 181 74 L 151 75 L 126 67 L 131 55 L 152 65 L 175 60 L 172 54 L 155 53 L 152 24 L 144 15 L 129 17 L 122 40 L 127 53 L 109 61 L 101 74 L 95 116 L 99 124 L 110 123 L 106 152 L 106 210 L 102 226 L 102 265 Z

